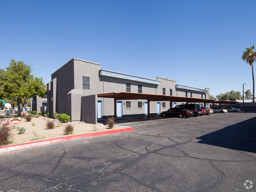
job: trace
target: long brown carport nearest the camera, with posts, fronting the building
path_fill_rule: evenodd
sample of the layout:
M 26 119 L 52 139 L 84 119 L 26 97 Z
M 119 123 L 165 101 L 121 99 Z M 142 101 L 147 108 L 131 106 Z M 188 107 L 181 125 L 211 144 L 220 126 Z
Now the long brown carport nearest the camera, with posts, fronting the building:
M 215 100 L 211 99 L 199 99 L 189 97 L 178 97 L 168 95 L 156 95 L 156 94 L 143 94 L 143 93 L 131 93 L 131 92 L 109 92 L 97 94 L 101 98 L 113 98 L 114 99 L 114 116 L 117 117 L 117 100 L 147 100 L 148 101 L 148 118 L 150 118 L 150 102 L 169 101 L 170 108 L 173 102 L 186 102 L 188 103 L 214 103 Z

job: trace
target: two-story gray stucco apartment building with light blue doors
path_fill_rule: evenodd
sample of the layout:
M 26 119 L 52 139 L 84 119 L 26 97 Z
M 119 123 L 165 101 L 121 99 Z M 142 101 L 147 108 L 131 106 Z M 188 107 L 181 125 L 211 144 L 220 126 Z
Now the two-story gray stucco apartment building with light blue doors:
M 86 121 L 113 116 L 113 98 L 92 95 L 109 92 L 133 92 L 210 99 L 210 89 L 177 85 L 176 81 L 157 77 L 156 80 L 100 69 L 99 63 L 73 58 L 52 74 L 47 84 L 47 111 L 66 113 L 72 121 Z M 184 102 L 185 103 L 185 102 Z M 196 103 L 196 102 L 195 102 Z M 117 117 L 145 116 L 147 100 L 117 100 Z M 160 114 L 179 103 L 170 101 L 150 103 L 150 114 Z M 200 105 L 203 106 L 202 103 Z M 208 105 L 208 104 L 207 104 Z

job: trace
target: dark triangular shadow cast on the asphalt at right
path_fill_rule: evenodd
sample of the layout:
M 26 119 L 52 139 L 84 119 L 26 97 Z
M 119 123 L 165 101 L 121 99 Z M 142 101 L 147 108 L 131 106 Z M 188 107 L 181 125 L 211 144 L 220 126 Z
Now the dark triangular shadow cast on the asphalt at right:
M 256 153 L 256 117 L 198 137 L 198 143 Z

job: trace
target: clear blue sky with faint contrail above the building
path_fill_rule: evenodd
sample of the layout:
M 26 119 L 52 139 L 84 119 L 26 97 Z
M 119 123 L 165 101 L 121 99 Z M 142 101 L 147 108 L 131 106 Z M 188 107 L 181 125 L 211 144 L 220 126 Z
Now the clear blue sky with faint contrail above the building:
M 254 0 L 1 0 L 0 68 L 32 64 L 45 83 L 73 57 L 175 80 L 216 96 L 252 91 Z

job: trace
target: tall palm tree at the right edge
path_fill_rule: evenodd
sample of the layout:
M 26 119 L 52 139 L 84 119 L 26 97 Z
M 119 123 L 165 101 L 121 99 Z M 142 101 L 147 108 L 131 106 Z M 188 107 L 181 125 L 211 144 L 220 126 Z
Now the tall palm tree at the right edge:
M 253 63 L 256 61 L 256 52 L 254 51 L 254 45 L 250 48 L 246 48 L 242 56 L 243 61 L 249 63 L 252 66 L 252 104 L 254 106 L 254 74 L 253 74 Z

